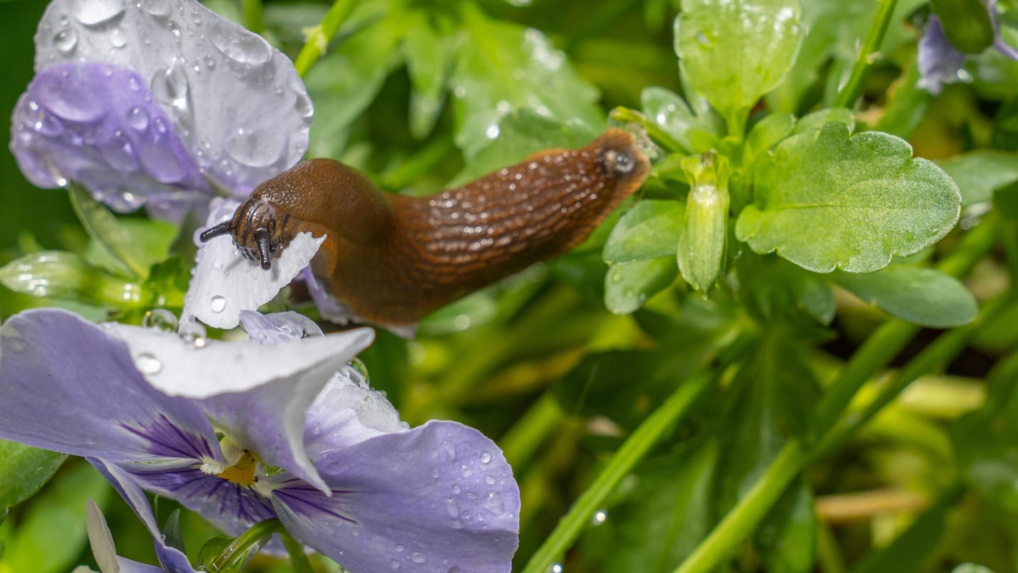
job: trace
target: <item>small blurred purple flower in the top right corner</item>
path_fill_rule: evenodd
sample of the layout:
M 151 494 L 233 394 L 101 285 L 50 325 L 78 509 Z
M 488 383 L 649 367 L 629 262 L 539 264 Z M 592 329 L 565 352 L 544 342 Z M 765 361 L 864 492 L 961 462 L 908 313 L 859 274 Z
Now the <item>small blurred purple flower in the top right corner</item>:
M 1018 50 L 1001 38 L 1000 24 L 997 21 L 997 0 L 986 1 L 986 11 L 994 26 L 994 48 L 1012 60 L 1018 60 Z M 930 15 L 926 28 L 919 39 L 917 65 L 919 66 L 918 87 L 938 95 L 947 83 L 954 83 L 966 77 L 962 65 L 965 54 L 948 42 L 940 18 Z

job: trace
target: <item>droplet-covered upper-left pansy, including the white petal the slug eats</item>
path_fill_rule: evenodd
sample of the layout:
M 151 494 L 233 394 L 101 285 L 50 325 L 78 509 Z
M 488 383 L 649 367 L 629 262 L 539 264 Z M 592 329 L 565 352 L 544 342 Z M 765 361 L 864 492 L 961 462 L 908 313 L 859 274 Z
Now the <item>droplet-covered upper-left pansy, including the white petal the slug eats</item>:
M 300 159 L 313 114 L 285 55 L 194 0 L 53 0 L 10 148 L 40 187 L 79 184 L 115 211 L 171 221 L 211 213 L 211 226 Z M 321 240 L 299 234 L 268 272 L 230 241 L 202 245 L 186 313 L 235 327 Z

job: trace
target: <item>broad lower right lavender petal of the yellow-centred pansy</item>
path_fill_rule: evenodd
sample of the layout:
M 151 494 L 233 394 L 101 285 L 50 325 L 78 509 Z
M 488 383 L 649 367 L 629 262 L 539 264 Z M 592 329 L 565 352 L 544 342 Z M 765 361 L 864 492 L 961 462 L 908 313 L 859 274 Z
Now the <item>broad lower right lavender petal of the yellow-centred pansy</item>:
M 518 543 L 519 489 L 475 429 L 433 421 L 316 460 L 331 497 L 278 483 L 293 537 L 351 571 L 506 573 Z

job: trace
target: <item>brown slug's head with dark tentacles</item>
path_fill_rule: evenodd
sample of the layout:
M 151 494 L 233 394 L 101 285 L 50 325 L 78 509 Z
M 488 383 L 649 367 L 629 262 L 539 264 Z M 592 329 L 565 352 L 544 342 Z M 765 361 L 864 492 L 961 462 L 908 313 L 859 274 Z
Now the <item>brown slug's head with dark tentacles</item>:
M 278 224 L 276 208 L 265 199 L 251 196 L 237 208 L 231 220 L 206 229 L 199 238 L 205 242 L 229 234 L 244 259 L 260 263 L 268 271 L 272 268 L 272 260 L 282 254 L 290 243 L 289 235 L 283 232 L 288 219 L 286 216 L 283 224 Z

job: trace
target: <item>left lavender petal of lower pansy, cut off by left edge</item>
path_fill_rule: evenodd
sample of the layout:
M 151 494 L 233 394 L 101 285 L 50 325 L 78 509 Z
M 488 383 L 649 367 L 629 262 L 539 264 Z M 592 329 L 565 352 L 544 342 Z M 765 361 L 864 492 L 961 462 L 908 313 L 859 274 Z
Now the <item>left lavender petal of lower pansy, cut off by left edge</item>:
M 58 308 L 0 328 L 0 438 L 108 460 L 223 459 L 193 402 L 153 388 L 123 342 Z

